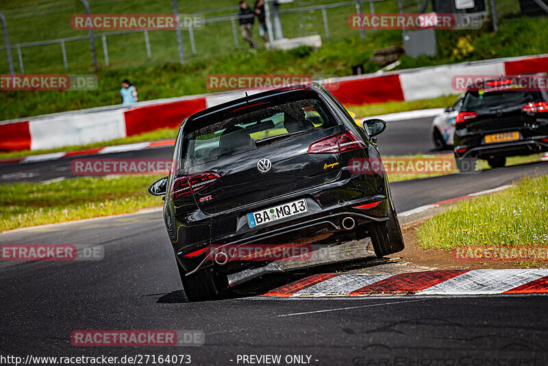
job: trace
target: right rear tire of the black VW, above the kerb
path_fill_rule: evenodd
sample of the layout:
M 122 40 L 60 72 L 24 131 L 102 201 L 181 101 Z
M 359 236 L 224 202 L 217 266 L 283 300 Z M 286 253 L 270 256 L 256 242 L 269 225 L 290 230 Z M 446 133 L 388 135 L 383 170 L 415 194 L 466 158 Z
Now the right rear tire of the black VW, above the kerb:
M 405 247 L 395 210 L 388 205 L 388 221 L 369 224 L 369 235 L 377 257 L 401 252 Z

